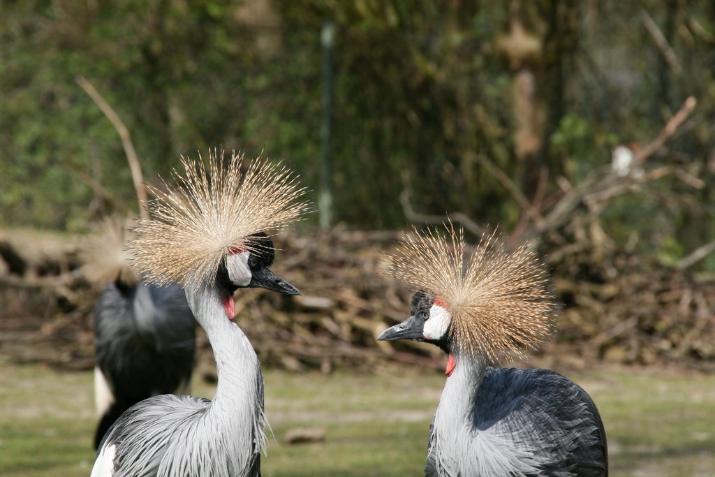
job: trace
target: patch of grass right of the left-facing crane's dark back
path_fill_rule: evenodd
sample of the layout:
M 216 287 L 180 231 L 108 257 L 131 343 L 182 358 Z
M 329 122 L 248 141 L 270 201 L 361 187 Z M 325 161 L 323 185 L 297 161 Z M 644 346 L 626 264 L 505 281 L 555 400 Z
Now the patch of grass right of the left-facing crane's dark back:
M 715 476 L 715 376 L 622 370 L 585 384 L 606 425 L 613 475 Z

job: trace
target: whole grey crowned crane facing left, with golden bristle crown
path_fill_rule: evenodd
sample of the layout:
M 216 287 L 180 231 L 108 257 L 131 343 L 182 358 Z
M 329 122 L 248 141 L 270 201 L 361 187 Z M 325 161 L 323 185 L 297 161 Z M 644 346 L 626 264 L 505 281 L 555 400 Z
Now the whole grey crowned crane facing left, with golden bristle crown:
M 425 476 L 607 476 L 606 432 L 585 390 L 550 370 L 490 366 L 553 333 L 543 267 L 526 246 L 506 252 L 488 235 L 468 251 L 461 232 L 447 233 L 414 231 L 391 257 L 393 276 L 420 291 L 410 318 L 378 337 L 448 355 Z

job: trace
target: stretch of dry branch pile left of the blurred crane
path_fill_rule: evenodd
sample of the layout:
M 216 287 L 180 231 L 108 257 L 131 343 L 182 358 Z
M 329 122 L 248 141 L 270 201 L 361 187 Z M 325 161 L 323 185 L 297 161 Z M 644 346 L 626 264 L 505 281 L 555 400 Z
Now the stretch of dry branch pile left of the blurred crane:
M 0 231 L 0 354 L 70 368 L 94 365 L 92 307 L 80 237 Z

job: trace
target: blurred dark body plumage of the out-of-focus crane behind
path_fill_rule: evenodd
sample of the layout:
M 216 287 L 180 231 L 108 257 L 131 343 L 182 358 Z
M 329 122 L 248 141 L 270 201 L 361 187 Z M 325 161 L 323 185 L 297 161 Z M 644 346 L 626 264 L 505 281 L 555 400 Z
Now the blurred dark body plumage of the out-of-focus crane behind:
M 132 405 L 190 382 L 195 341 L 194 315 L 179 285 L 117 281 L 104 287 L 94 309 L 94 344 L 114 402 L 99 421 L 95 448 Z

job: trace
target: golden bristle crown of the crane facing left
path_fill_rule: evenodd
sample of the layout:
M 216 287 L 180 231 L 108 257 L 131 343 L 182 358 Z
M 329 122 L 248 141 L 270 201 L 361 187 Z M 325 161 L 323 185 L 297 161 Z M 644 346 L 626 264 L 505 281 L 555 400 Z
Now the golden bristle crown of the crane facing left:
M 390 255 L 390 274 L 441 298 L 460 353 L 493 360 L 538 349 L 554 333 L 558 305 L 536 254 L 528 244 L 507 251 L 496 231 L 469 247 L 463 230 L 445 229 L 443 237 L 413 227 Z

